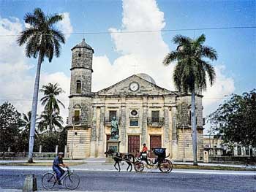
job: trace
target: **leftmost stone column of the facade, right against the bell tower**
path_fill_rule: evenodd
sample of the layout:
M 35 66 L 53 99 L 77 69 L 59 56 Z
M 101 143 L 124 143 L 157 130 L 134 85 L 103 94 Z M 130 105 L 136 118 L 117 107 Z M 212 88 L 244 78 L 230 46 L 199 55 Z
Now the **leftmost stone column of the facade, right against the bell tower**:
M 91 122 L 91 150 L 90 150 L 90 156 L 95 157 L 96 156 L 96 150 L 97 150 L 97 136 L 96 136 L 96 119 L 97 119 L 97 107 L 92 107 L 92 122 Z

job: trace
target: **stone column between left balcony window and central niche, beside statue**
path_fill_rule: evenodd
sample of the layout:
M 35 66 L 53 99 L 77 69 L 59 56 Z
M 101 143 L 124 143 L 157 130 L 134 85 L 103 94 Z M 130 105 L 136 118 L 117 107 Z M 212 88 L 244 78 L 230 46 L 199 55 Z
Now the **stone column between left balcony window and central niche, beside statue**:
M 126 149 L 126 139 L 127 139 L 127 108 L 126 108 L 126 101 L 125 96 L 121 96 L 121 122 L 119 126 L 119 141 L 121 141 L 120 151 L 125 152 Z

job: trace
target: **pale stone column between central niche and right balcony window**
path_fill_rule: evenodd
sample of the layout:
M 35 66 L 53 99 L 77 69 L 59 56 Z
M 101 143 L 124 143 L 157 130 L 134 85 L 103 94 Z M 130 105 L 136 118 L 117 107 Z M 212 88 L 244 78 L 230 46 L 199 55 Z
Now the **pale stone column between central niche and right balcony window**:
M 141 144 L 147 144 L 147 132 L 148 132 L 148 97 L 143 96 L 143 114 L 142 114 L 142 126 L 141 126 Z

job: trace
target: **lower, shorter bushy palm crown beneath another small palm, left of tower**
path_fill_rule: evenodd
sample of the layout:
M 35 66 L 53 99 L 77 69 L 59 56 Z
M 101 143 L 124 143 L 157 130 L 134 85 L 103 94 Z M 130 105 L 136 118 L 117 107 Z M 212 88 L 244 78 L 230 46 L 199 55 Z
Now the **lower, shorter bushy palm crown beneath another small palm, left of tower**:
M 56 127 L 58 127 L 60 130 L 63 128 L 62 124 L 64 122 L 58 112 L 51 113 L 50 111 L 45 110 L 40 115 L 39 120 L 38 128 L 40 132 L 46 131 L 49 134 L 52 134 L 53 131 L 59 131 L 56 129 Z M 52 123 L 53 126 L 50 126 L 50 123 Z

